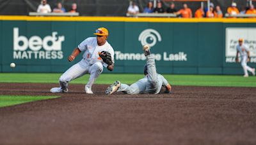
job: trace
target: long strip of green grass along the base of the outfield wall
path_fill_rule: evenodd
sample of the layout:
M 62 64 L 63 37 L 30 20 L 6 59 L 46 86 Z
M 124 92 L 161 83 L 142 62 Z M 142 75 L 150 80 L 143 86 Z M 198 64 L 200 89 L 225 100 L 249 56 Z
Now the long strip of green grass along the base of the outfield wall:
M 58 83 L 61 74 L 56 73 L 1 73 L 0 83 Z M 252 86 L 256 87 L 256 77 L 221 75 L 163 75 L 172 85 L 192 86 Z M 89 75 L 75 79 L 71 83 L 86 84 Z M 115 80 L 131 84 L 143 78 L 143 74 L 101 74 L 96 84 L 111 84 Z

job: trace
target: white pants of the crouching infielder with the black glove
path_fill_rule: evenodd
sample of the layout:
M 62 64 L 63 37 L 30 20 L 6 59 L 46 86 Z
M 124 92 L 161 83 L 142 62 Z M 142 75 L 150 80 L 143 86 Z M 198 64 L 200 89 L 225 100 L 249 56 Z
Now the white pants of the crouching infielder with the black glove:
M 102 71 L 103 66 L 101 62 L 95 62 L 95 64 L 88 64 L 88 62 L 82 59 L 80 62 L 74 64 L 74 66 L 70 67 L 60 76 L 60 86 L 63 90 L 65 90 L 68 87 L 69 81 L 79 78 L 84 74 L 90 74 L 90 79 L 86 86 L 92 88 L 95 79 L 99 77 Z

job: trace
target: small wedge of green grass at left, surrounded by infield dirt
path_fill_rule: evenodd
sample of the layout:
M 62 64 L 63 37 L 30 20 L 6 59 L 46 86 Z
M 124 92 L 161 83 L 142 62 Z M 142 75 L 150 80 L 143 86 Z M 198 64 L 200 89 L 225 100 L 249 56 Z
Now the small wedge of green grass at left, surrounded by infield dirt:
M 36 100 L 58 98 L 56 96 L 0 95 L 0 107 L 13 106 Z

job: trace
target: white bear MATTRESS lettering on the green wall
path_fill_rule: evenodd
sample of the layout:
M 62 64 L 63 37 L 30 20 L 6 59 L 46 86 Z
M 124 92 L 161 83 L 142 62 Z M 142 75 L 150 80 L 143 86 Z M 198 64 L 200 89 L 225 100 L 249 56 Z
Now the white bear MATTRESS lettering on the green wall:
M 65 36 L 58 36 L 52 32 L 51 36 L 19 35 L 19 28 L 13 28 L 13 59 L 63 59 L 61 43 Z M 43 48 L 43 49 L 42 49 Z

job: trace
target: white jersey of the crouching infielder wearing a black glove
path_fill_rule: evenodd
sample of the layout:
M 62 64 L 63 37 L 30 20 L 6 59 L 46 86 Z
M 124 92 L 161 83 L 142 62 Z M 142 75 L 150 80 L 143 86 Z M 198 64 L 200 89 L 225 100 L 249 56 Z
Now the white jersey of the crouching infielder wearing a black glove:
M 108 64 L 103 62 L 99 57 L 99 52 L 105 51 L 111 54 L 112 62 L 114 63 L 114 50 L 108 41 L 102 46 L 97 44 L 97 38 L 87 38 L 78 45 L 78 48 L 81 52 L 85 51 L 83 54 L 83 59 L 88 62 L 88 64 L 95 64 L 95 62 L 101 62 L 104 67 L 108 67 Z

